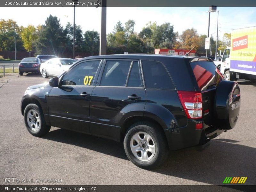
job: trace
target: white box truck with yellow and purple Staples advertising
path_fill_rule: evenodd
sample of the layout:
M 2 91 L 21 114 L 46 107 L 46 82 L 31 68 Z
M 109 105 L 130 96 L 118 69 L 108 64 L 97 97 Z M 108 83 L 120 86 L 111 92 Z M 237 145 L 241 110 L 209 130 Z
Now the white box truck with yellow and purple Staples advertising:
M 231 32 L 231 47 L 222 54 L 220 72 L 226 80 L 246 79 L 256 82 L 256 26 L 234 29 Z

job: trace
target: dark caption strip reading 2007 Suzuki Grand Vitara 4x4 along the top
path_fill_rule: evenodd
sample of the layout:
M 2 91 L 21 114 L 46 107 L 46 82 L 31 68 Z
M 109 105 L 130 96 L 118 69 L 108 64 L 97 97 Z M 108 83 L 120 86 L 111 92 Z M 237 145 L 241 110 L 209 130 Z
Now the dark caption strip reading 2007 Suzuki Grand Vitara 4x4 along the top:
M 105 3 L 104 3 L 105 2 Z M 0 7 L 256 7 L 255 0 L 1 0 Z

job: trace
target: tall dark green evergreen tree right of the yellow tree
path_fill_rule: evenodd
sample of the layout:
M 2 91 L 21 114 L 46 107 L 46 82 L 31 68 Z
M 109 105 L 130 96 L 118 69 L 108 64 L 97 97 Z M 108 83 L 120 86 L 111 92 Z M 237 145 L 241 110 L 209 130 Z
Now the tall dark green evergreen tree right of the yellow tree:
M 56 16 L 50 15 L 45 20 L 45 25 L 38 30 L 36 40 L 36 54 L 61 55 L 67 48 L 67 31 L 63 30 L 60 20 Z

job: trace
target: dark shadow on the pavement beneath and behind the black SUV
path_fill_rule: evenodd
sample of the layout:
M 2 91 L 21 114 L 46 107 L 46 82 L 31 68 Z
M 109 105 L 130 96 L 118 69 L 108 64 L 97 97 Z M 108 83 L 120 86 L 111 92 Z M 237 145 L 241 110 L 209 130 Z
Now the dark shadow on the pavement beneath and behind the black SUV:
M 128 160 L 123 144 L 116 141 L 63 129 L 49 132 L 44 139 Z M 194 148 L 170 151 L 165 164 L 151 171 L 213 185 L 222 185 L 226 177 L 248 177 L 245 184 L 255 185 L 256 149 L 235 143 L 239 141 L 215 139 L 202 152 Z M 188 183 L 184 183 L 186 184 Z

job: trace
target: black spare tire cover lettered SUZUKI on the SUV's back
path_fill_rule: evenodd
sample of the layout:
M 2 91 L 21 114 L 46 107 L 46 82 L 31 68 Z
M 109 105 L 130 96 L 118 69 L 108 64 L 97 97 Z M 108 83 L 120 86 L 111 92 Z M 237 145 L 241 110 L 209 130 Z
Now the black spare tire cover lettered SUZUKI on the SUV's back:
M 221 81 L 215 95 L 215 118 L 219 129 L 235 127 L 240 110 L 240 88 L 236 82 Z

